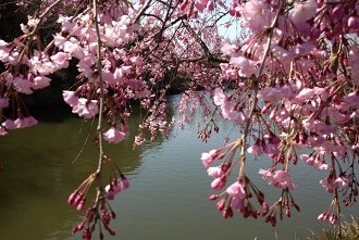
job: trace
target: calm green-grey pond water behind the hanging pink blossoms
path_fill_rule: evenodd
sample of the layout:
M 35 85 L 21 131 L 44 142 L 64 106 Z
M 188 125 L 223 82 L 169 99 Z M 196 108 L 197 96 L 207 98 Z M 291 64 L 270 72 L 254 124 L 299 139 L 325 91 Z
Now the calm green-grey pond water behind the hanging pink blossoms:
M 178 100 L 178 96 L 171 100 Z M 72 235 L 71 229 L 83 215 L 70 206 L 66 199 L 96 169 L 97 150 L 91 138 L 87 139 L 96 126 L 59 110 L 39 113 L 37 117 L 41 119 L 39 125 L 0 138 L 3 166 L 0 239 L 82 239 L 78 233 Z M 132 125 L 139 119 L 139 115 L 135 115 Z M 319 186 L 324 175 L 304 164 L 299 164 L 294 174 L 298 187 L 293 194 L 301 207 L 300 213 L 293 211 L 292 218 L 278 222 L 275 228 L 262 218 L 243 219 L 239 214 L 224 220 L 215 203 L 208 200 L 213 193 L 211 179 L 200 163 L 202 152 L 218 148 L 224 137 L 235 132 L 231 125 L 222 127 L 208 143 L 197 139 L 194 125 L 185 130 L 175 126 L 169 139 L 136 150 L 132 150 L 134 136 L 120 144 L 106 146 L 107 154 L 131 180 L 131 188 L 112 201 L 117 213 L 111 224 L 116 231 L 112 239 L 286 240 L 306 239 L 311 231 L 320 232 L 327 227 L 317 220 L 331 201 L 330 194 Z M 276 200 L 280 190 L 268 186 L 257 174 L 260 167 L 270 166 L 270 161 L 250 160 L 247 165 L 249 175 L 253 176 L 251 180 L 263 189 L 265 198 Z M 345 210 L 346 217 L 358 218 L 358 206 Z

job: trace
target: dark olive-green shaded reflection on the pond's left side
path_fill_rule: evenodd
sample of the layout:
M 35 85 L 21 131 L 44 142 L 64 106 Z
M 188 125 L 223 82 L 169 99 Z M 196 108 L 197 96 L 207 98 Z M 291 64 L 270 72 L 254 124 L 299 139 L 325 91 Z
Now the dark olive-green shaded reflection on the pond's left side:
M 38 126 L 0 138 L 4 167 L 0 175 L 0 239 L 64 239 L 78 217 L 66 198 L 97 168 L 98 153 L 91 142 L 94 135 L 89 135 L 96 123 L 84 123 L 69 112 L 39 113 L 37 118 L 41 119 Z M 131 139 L 106 146 L 106 152 L 124 173 L 137 173 L 141 150 L 132 151 Z

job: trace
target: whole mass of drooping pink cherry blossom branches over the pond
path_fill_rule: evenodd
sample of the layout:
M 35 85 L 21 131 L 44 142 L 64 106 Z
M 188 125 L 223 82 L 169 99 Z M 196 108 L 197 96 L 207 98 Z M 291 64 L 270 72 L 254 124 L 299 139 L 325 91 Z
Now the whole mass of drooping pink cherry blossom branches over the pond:
M 358 195 L 358 11 L 357 1 L 41 1 L 18 26 L 18 37 L 0 39 L 0 136 L 37 124 L 23 96 L 51 86 L 59 70 L 75 67 L 63 101 L 79 117 L 98 118 L 98 168 L 69 198 L 81 211 L 96 185 L 94 204 L 73 228 L 84 239 L 91 239 L 94 222 L 102 223 L 100 238 L 101 229 L 114 235 L 107 201 L 128 180 L 102 140 L 122 143 L 134 103 L 146 112 L 134 147 L 168 137 L 174 123 L 198 124 L 205 142 L 221 132 L 221 121 L 234 124 L 235 140 L 200 156 L 212 190 L 220 191 L 210 199 L 224 218 L 235 209 L 275 226 L 278 213 L 299 212 L 292 173 L 301 159 L 327 174 L 320 185 L 333 201 L 319 220 L 341 226 L 339 199 L 350 205 Z M 221 36 L 220 20 L 227 16 L 224 25 L 242 26 L 236 39 Z M 47 24 L 59 31 L 44 38 Z M 183 94 L 176 119 L 169 119 L 173 84 Z M 253 156 L 272 164 L 259 169 L 281 190 L 271 204 L 247 170 Z M 112 174 L 106 187 L 98 180 L 103 167 Z

